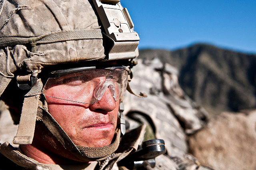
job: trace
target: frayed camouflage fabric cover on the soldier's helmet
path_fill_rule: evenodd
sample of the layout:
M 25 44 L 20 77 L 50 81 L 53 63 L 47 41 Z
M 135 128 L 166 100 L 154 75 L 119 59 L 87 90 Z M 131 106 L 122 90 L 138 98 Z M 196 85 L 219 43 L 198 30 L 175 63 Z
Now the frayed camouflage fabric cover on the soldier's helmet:
M 53 64 L 111 60 L 94 4 L 92 0 L 1 0 L 0 95 L 17 70 L 36 74 Z

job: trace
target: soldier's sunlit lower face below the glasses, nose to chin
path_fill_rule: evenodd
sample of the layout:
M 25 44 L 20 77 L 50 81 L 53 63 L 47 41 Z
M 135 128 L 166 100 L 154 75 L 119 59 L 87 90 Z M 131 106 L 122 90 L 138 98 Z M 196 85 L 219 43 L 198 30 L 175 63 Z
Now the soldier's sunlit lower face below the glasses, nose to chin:
M 111 144 L 117 124 L 119 100 L 114 100 L 109 89 L 95 104 L 67 104 L 56 98 L 47 98 L 47 103 L 50 114 L 74 144 L 94 148 Z

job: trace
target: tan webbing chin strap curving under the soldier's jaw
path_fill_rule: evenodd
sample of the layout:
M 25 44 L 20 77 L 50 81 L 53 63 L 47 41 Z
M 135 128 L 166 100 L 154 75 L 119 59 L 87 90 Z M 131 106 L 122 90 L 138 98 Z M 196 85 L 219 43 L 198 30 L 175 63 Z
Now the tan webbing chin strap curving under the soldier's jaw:
M 118 128 L 114 135 L 114 142 L 108 146 L 104 146 L 102 148 L 90 148 L 84 146 L 75 145 L 72 140 L 68 137 L 66 132 L 62 129 L 62 127 L 56 122 L 56 120 L 52 117 L 52 115 L 42 108 L 42 121 L 50 130 L 50 132 L 57 138 L 57 140 L 74 156 L 79 158 L 80 160 L 84 160 L 87 162 L 103 160 L 110 156 L 119 146 L 120 142 L 120 128 Z

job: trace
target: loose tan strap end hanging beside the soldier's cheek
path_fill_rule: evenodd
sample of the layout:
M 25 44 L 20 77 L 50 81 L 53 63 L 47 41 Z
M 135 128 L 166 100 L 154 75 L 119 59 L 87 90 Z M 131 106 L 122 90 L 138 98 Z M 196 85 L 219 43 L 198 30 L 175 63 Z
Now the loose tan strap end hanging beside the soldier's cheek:
M 14 144 L 32 144 L 42 87 L 42 81 L 38 79 L 36 84 L 24 96 L 18 131 L 13 140 Z

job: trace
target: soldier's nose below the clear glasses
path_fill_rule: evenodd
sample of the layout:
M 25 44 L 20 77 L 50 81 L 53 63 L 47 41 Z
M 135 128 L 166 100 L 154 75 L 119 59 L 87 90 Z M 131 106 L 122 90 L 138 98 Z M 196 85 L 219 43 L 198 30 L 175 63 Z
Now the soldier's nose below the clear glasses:
M 106 112 L 111 112 L 112 110 L 114 110 L 116 108 L 116 101 L 112 93 L 110 92 L 110 89 L 107 88 L 101 100 L 94 104 L 91 104 L 89 108 L 92 110 L 101 109 Z

